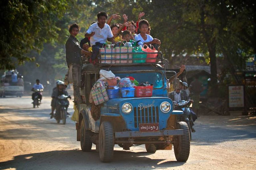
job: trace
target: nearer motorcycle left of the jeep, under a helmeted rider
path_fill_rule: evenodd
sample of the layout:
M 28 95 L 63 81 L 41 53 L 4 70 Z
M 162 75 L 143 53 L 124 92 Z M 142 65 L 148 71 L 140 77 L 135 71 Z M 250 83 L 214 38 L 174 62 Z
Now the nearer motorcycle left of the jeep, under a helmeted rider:
M 70 96 L 66 96 L 64 94 L 58 96 L 57 98 L 57 107 L 56 107 L 56 114 L 54 115 L 54 118 L 56 119 L 57 123 L 60 123 L 60 120 L 62 120 L 62 124 L 66 124 L 66 118 L 67 118 L 67 109 L 68 109 L 68 98 L 71 99 Z

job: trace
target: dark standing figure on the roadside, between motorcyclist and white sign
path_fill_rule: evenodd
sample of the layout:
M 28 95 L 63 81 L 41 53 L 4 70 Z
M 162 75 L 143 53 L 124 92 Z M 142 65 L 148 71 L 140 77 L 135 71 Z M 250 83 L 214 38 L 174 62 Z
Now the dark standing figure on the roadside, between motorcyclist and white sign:
M 189 91 L 193 93 L 194 103 L 192 109 L 196 112 L 199 117 L 199 102 L 200 102 L 200 93 L 203 91 L 202 83 L 198 80 L 198 75 L 195 76 L 195 80 L 191 82 L 189 86 Z

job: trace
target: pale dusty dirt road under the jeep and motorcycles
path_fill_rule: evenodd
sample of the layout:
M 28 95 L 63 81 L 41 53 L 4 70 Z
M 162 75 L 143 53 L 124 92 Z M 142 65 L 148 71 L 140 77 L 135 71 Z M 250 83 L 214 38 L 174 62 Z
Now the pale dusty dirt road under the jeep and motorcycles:
M 116 146 L 113 162 L 102 163 L 95 145 L 81 151 L 70 118 L 66 125 L 50 119 L 50 98 L 40 108 L 31 102 L 0 98 L 0 169 L 256 169 L 256 116 L 199 117 L 187 162 L 176 162 L 173 150 L 150 154 L 140 145 L 129 151 Z

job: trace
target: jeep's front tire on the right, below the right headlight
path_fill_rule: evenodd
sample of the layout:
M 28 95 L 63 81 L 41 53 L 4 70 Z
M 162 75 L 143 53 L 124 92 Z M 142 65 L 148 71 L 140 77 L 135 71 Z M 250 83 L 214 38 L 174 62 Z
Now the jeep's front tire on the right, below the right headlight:
M 176 129 L 183 129 L 183 135 L 176 136 L 177 143 L 174 143 L 174 154 L 179 162 L 186 162 L 190 152 L 190 136 L 188 124 L 184 121 L 177 122 Z

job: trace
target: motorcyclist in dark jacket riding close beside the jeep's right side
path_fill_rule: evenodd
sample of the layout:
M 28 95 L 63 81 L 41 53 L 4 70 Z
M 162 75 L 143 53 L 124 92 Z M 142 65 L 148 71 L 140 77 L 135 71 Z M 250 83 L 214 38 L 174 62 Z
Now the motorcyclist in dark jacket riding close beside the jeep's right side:
M 186 93 L 186 90 L 181 90 L 182 89 L 182 81 L 180 80 L 180 83 L 177 85 L 176 90 L 174 92 L 169 92 L 168 93 L 168 97 L 170 99 L 172 99 L 172 101 L 176 101 L 179 102 L 180 100 L 189 100 L 189 96 Z M 193 102 L 193 100 L 191 100 L 191 102 Z M 189 123 L 190 123 L 190 127 L 191 127 L 191 131 L 195 132 L 196 130 L 192 127 L 194 126 L 194 121 L 192 120 L 192 115 L 189 111 Z

